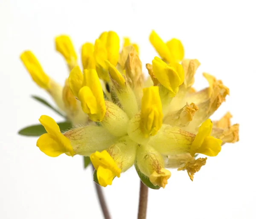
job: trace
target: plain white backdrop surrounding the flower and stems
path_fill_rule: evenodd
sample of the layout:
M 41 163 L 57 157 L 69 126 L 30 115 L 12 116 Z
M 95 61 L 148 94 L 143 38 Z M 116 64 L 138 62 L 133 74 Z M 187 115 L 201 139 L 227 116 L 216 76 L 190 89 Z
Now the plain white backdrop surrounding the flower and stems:
M 164 39 L 182 40 L 187 58 L 201 67 L 195 87 L 207 86 L 202 72 L 221 79 L 230 97 L 212 118 L 226 111 L 240 123 L 240 141 L 226 144 L 195 174 L 172 170 L 165 189 L 150 190 L 148 219 L 255 219 L 255 6 L 251 1 L 163 2 L 127 0 L 0 0 L 0 218 L 102 218 L 90 169 L 82 158 L 51 158 L 35 146 L 37 138 L 17 131 L 38 123 L 42 114 L 61 118 L 30 98 L 50 98 L 29 77 L 19 55 L 31 49 L 44 70 L 64 83 L 67 67 L 55 52 L 54 37 L 69 34 L 76 50 L 114 30 L 140 45 L 143 64 L 156 52 L 151 29 Z M 143 65 L 143 66 L 144 66 Z M 145 69 L 145 68 L 144 68 Z M 137 217 L 139 178 L 134 168 L 104 189 L 113 219 Z

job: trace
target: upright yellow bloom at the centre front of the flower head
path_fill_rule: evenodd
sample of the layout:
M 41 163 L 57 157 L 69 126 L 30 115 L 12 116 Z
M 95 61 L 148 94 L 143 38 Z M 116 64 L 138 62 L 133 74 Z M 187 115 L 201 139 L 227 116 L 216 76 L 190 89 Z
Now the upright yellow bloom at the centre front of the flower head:
M 145 137 L 154 136 L 163 122 L 162 103 L 156 86 L 143 89 L 140 128 Z

